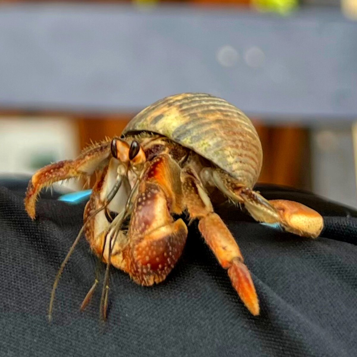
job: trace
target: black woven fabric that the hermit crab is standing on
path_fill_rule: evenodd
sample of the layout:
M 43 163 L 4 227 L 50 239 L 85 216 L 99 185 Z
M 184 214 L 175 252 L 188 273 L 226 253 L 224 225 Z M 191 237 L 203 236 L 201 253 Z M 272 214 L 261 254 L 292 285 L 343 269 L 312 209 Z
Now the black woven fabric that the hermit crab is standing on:
M 252 273 L 260 316 L 243 306 L 193 224 L 163 283 L 141 287 L 112 268 L 103 326 L 101 288 L 79 311 L 96 265 L 84 238 L 60 280 L 52 323 L 46 319 L 84 204 L 47 194 L 33 222 L 24 211 L 25 187 L 0 186 L 0 356 L 357 356 L 357 212 L 304 191 L 257 189 L 315 208 L 326 225 L 310 240 L 259 225 L 232 206 L 216 209 Z

